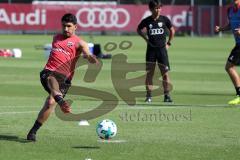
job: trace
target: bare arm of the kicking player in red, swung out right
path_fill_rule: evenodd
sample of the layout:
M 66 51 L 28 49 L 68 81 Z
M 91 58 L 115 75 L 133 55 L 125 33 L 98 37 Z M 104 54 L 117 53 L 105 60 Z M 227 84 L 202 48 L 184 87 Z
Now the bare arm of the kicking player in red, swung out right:
M 80 50 L 83 52 L 84 57 L 86 57 L 90 63 L 96 63 L 96 64 L 99 63 L 96 56 L 90 53 L 88 44 L 85 41 L 81 40 L 79 42 L 79 47 L 80 47 Z

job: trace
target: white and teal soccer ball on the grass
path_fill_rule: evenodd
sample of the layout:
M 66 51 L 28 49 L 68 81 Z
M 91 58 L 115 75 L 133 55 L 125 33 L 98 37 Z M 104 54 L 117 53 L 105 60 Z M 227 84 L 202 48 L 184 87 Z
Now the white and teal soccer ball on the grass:
M 117 134 L 117 126 L 110 119 L 104 119 L 97 124 L 97 135 L 101 139 L 111 139 Z

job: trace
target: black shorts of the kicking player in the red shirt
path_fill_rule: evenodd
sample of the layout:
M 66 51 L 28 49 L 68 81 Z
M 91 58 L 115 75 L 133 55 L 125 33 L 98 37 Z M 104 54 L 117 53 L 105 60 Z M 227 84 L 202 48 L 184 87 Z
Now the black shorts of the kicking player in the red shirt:
M 48 86 L 48 77 L 49 76 L 54 76 L 56 78 L 56 80 L 58 81 L 59 84 L 59 89 L 62 92 L 63 96 L 65 96 L 67 94 L 68 89 L 71 86 L 71 81 L 64 75 L 57 73 L 57 72 L 53 72 L 47 69 L 44 69 L 40 72 L 40 81 L 42 83 L 42 86 L 44 87 L 44 89 L 51 94 L 51 90 L 49 89 Z

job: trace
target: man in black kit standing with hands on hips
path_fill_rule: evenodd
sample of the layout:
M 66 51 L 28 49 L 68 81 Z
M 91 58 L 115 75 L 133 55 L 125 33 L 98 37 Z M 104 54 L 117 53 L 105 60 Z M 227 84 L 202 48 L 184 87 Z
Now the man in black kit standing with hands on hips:
M 162 4 L 160 1 L 151 0 L 148 6 L 152 15 L 143 19 L 137 28 L 138 34 L 147 42 L 147 76 L 145 81 L 147 94 L 145 101 L 148 103 L 152 102 L 151 91 L 153 90 L 153 75 L 157 62 L 163 79 L 164 102 L 173 102 L 169 94 L 170 66 L 167 49 L 171 46 L 171 40 L 174 37 L 175 30 L 171 21 L 166 16 L 161 15 Z M 144 32 L 145 28 L 147 35 Z M 168 41 L 166 41 L 168 32 Z

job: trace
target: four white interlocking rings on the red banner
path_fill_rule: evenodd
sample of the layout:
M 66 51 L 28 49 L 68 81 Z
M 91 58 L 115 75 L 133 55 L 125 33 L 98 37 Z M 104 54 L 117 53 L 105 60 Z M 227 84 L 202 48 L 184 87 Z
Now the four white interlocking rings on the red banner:
M 130 21 L 130 15 L 124 8 L 81 8 L 76 17 L 78 25 L 84 28 L 124 28 Z

